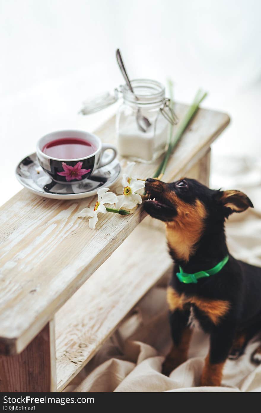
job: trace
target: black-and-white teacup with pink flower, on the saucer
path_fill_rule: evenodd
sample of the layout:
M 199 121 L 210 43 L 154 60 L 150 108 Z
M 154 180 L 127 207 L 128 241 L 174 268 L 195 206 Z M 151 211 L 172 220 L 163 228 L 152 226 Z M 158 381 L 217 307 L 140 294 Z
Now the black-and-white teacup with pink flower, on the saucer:
M 47 143 L 68 137 L 86 140 L 93 145 L 94 152 L 79 159 L 58 159 L 42 152 Z M 113 153 L 106 159 L 102 159 L 102 155 L 107 149 L 113 150 Z M 71 185 L 89 178 L 95 169 L 110 164 L 115 159 L 117 150 L 113 145 L 102 143 L 92 133 L 68 130 L 48 133 L 48 135 L 43 136 L 37 142 L 36 154 L 42 169 L 51 176 L 52 180 L 63 185 Z

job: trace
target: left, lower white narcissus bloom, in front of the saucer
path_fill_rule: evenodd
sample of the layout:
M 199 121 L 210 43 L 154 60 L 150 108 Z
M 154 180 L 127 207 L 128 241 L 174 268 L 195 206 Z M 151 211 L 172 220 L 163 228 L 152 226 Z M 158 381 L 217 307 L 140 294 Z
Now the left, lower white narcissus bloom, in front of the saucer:
M 117 202 L 117 196 L 113 192 L 107 191 L 109 191 L 109 188 L 98 189 L 98 201 L 94 205 L 94 208 L 84 208 L 78 214 L 79 217 L 90 217 L 89 227 L 91 229 L 95 228 L 95 225 L 98 221 L 98 212 L 101 212 L 102 214 L 105 214 L 107 212 L 106 207 L 104 207 L 104 204 L 115 204 L 115 202 Z

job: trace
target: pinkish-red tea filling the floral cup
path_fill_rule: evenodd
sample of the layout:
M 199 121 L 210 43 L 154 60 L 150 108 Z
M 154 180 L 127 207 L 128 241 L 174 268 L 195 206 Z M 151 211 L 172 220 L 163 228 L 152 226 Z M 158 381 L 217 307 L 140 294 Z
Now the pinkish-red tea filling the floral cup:
M 91 142 L 81 138 L 61 138 L 48 142 L 42 152 L 57 159 L 81 159 L 96 151 Z

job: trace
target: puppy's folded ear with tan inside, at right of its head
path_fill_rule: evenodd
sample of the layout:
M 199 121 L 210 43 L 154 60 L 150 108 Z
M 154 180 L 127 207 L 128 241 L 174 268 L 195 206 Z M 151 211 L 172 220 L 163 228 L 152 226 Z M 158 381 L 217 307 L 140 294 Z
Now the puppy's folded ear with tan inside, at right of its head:
M 246 194 L 236 190 L 219 191 L 214 195 L 215 199 L 221 202 L 226 210 L 226 216 L 232 212 L 243 212 L 248 207 L 254 208 Z

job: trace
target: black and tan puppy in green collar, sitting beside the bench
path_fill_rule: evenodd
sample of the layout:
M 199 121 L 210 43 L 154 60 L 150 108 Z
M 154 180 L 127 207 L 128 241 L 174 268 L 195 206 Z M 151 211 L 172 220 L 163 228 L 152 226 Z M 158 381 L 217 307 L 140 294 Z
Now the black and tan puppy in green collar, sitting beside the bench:
M 187 358 L 193 319 L 210 334 L 202 386 L 219 386 L 223 365 L 240 356 L 249 339 L 261 332 L 261 268 L 228 252 L 225 218 L 253 207 L 240 191 L 211 190 L 194 179 L 164 183 L 148 178 L 144 208 L 166 224 L 175 261 L 167 290 L 174 342 L 163 365 L 169 374 Z M 261 346 L 252 354 L 261 361 Z

